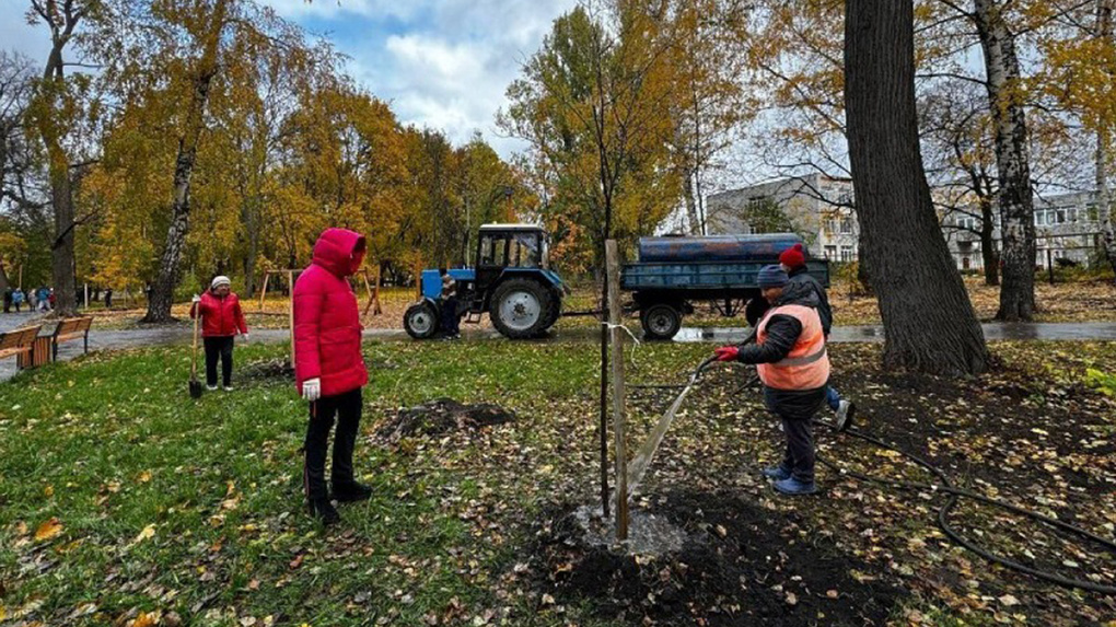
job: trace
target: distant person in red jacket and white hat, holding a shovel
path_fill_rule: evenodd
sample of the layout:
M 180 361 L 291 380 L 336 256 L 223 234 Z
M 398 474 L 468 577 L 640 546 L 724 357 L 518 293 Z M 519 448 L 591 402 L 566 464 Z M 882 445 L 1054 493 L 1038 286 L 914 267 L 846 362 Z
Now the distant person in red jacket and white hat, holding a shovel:
M 232 390 L 232 344 L 237 334 L 248 339 L 248 324 L 240 309 L 240 299 L 232 293 L 229 277 L 217 277 L 202 296 L 194 296 L 190 317 L 202 317 L 202 339 L 205 343 L 205 387 L 217 389 L 217 361 L 221 360 L 221 379 L 227 392 Z

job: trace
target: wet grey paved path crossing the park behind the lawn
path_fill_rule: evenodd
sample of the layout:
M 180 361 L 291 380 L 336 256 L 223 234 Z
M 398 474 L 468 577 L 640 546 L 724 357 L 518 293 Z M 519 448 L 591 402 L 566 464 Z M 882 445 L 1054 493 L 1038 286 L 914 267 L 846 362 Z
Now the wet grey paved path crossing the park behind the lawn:
M 0 315 L 0 332 L 25 326 L 32 321 L 28 314 Z M 47 322 L 50 325 L 50 322 Z M 1051 341 L 1116 341 L 1116 322 L 1049 322 L 1049 324 L 1000 324 L 982 325 L 984 337 L 989 340 L 1051 340 Z M 732 344 L 748 337 L 747 328 L 727 327 L 685 327 L 679 331 L 674 341 Z M 464 329 L 466 340 L 502 340 L 494 329 Z M 257 329 L 251 332 L 251 343 L 288 341 L 286 329 Z M 368 329 L 364 331 L 366 340 L 410 341 L 407 334 L 394 329 Z M 550 337 L 538 341 L 596 341 L 597 332 L 593 328 L 569 329 L 556 331 Z M 884 329 L 879 326 L 865 325 L 855 327 L 834 327 L 829 337 L 834 343 L 883 341 Z M 191 340 L 191 329 L 185 326 L 165 326 L 115 331 L 94 330 L 89 334 L 89 350 L 144 348 L 152 346 L 184 345 Z M 73 359 L 81 354 L 81 343 L 71 341 L 61 345 L 58 351 L 60 359 Z M 10 378 L 16 372 L 16 359 L 0 360 L 0 380 Z

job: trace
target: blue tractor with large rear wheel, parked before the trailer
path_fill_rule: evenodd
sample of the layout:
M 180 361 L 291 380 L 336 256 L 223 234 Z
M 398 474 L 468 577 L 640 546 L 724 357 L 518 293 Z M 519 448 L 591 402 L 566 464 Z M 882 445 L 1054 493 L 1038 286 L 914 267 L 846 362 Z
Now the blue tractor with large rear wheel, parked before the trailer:
M 548 267 L 546 232 L 533 224 L 485 224 L 479 235 L 477 267 L 445 271 L 456 281 L 466 321 L 488 314 L 504 337 L 545 334 L 561 315 L 566 290 Z M 421 281 L 422 298 L 403 315 L 403 327 L 415 339 L 434 337 L 442 319 L 442 272 L 423 270 Z

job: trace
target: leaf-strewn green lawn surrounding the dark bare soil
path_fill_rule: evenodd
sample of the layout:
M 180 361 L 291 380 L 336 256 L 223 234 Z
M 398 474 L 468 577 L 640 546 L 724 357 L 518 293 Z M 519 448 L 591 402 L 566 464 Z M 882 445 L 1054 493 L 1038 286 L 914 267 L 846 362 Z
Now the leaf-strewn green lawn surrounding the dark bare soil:
M 628 354 L 628 382 L 682 383 L 710 348 L 643 344 Z M 285 350 L 238 348 L 238 375 Z M 538 578 L 546 573 L 529 563 L 540 513 L 595 499 L 597 350 L 560 343 L 366 345 L 372 382 L 356 465 L 375 495 L 343 507 L 345 522 L 329 530 L 302 509 L 299 448 L 307 417 L 290 382 L 241 376 L 235 392 L 192 401 L 185 348 L 94 354 L 20 374 L 0 384 L 0 621 L 135 627 L 143 611 L 241 627 L 267 625 L 268 618 L 321 627 L 425 625 L 434 617 L 439 625 L 472 624 L 489 616 L 508 625 L 607 625 L 587 601 L 545 604 Z M 1071 386 L 1088 367 L 1114 368 L 1105 344 L 1004 344 L 997 351 L 1012 367 L 1027 366 L 1012 380 L 1036 385 Z M 883 382 L 866 379 L 878 375 L 878 347 L 835 346 L 834 359 L 843 389 L 859 388 L 868 404 L 887 403 Z M 776 454 L 778 436 L 759 396 L 739 389 L 738 375 L 712 373 L 687 401 L 687 417 L 664 452 L 672 464 L 653 473 L 656 490 L 676 485 L 670 483 L 676 476 L 743 493 L 754 488 L 751 466 Z M 375 436 L 397 408 L 439 397 L 496 403 L 518 419 L 398 443 Z M 632 398 L 629 444 L 663 408 L 647 390 Z M 970 401 L 981 407 L 1001 402 Z M 1108 403 L 1095 395 L 1083 411 L 1105 412 Z M 941 407 L 927 403 L 923 409 Z M 1068 428 L 1068 416 L 1059 416 L 1060 428 Z M 975 455 L 983 442 L 962 430 L 943 447 L 968 446 Z M 887 464 L 876 456 L 862 461 Z M 866 511 L 848 496 L 859 488 L 843 490 L 845 498 L 818 501 L 817 509 L 772 507 L 797 508 L 819 528 L 855 522 L 884 538 L 924 536 L 933 527 L 923 515 Z M 51 519 L 61 531 L 37 540 Z M 846 528 L 837 529 L 845 534 Z M 862 551 L 876 550 L 876 537 L 850 538 Z M 528 569 L 518 568 L 525 563 Z M 937 568 L 914 558 L 903 563 L 932 573 Z M 1002 594 L 1004 580 L 993 571 L 973 577 L 991 581 L 993 596 Z M 897 611 L 912 608 L 932 624 L 961 624 L 949 599 L 922 598 Z M 964 624 L 979 620 L 966 616 Z

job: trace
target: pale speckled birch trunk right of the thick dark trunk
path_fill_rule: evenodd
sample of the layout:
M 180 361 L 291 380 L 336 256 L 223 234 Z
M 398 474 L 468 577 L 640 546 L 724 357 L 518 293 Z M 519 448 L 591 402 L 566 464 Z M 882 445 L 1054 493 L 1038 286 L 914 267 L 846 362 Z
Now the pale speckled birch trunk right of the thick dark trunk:
M 1020 89 L 1014 35 L 997 0 L 974 0 L 977 32 L 984 52 L 988 98 L 995 128 L 1003 284 L 1000 320 L 1035 316 L 1035 200 L 1028 157 L 1027 116 Z

